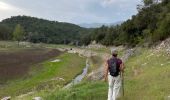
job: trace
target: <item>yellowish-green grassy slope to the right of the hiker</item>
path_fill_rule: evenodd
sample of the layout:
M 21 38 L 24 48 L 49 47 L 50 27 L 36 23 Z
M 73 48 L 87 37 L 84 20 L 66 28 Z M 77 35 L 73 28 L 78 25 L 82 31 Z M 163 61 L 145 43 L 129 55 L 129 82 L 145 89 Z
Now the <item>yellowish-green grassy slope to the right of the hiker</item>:
M 125 100 L 164 100 L 170 95 L 170 58 L 144 50 L 126 63 Z

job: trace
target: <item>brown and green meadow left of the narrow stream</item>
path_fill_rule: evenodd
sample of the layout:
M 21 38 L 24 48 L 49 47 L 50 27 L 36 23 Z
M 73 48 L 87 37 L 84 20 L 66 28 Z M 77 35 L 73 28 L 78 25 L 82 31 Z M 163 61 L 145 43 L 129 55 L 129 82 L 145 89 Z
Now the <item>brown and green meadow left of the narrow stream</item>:
M 45 46 L 27 48 L 16 47 L 11 42 L 7 44 L 8 47 L 4 47 L 2 43 L 0 52 L 0 58 L 4 58 L 0 66 L 4 76 L 1 77 L 0 97 L 16 97 L 47 88 L 61 88 L 85 67 L 86 59 L 78 54 Z

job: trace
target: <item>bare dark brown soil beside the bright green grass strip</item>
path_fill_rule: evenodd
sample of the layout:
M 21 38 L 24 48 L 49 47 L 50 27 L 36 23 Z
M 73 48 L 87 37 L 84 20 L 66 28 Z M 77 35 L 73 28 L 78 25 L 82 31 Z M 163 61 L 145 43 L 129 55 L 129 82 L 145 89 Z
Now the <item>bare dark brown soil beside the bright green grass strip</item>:
M 25 49 L 15 52 L 0 52 L 0 83 L 23 77 L 32 65 L 56 57 L 59 54 L 61 52 L 56 49 Z

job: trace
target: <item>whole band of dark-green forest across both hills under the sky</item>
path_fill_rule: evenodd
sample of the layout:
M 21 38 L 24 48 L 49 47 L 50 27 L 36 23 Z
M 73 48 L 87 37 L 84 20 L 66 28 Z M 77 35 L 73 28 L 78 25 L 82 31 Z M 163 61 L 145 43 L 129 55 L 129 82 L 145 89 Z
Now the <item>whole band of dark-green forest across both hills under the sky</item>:
M 159 1 L 159 2 L 158 2 Z M 117 26 L 87 29 L 29 16 L 15 16 L 0 22 L 0 40 L 56 44 L 152 45 L 170 36 L 170 1 L 143 0 L 138 13 Z

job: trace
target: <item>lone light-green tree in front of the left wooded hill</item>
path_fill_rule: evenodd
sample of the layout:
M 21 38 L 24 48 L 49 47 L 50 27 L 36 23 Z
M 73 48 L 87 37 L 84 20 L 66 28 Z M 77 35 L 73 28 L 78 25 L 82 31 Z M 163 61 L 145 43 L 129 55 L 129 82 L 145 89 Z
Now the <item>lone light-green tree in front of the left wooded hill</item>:
M 23 27 L 21 27 L 20 24 L 17 24 L 13 32 L 13 39 L 18 41 L 18 46 L 19 46 L 19 42 L 24 39 L 24 35 L 25 32 Z

